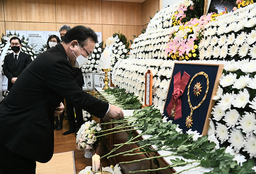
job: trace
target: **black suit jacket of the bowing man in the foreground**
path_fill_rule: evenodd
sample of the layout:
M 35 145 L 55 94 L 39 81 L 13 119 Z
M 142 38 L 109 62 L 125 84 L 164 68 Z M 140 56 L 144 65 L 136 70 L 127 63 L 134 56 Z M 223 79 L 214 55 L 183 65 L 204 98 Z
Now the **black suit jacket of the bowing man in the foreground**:
M 54 147 L 54 111 L 62 98 L 99 118 L 109 108 L 78 86 L 59 44 L 30 63 L 0 104 L 0 143 L 23 157 L 48 162 Z

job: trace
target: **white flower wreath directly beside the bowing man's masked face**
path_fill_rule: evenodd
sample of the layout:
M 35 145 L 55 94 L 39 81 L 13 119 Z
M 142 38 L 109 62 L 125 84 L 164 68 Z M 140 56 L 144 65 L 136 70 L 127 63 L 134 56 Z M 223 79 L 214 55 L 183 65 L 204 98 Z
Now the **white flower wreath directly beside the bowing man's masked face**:
M 88 58 L 88 62 L 82 66 L 81 71 L 82 73 L 86 72 L 98 72 L 98 64 L 100 56 L 103 52 L 103 42 L 99 44 L 95 44 L 95 48 L 93 50 L 92 55 Z

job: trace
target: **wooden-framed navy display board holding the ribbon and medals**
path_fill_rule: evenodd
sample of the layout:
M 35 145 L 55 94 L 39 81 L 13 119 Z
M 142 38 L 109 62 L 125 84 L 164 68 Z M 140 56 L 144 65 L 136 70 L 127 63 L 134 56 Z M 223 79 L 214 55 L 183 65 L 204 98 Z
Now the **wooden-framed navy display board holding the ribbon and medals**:
M 187 63 L 187 62 L 176 62 L 173 68 L 173 74 L 171 77 L 169 90 L 167 93 L 165 106 L 164 106 L 164 115 L 169 116 L 167 113 L 167 106 L 172 99 L 172 95 L 174 92 L 174 76 L 181 72 L 181 77 L 184 72 L 190 75 L 189 80 L 186 84 L 183 94 L 181 95 L 181 111 L 182 116 L 179 119 L 174 119 L 172 116 L 169 116 L 168 120 L 172 120 L 173 123 L 179 124 L 179 127 L 182 128 L 183 133 L 185 133 L 188 129 L 197 130 L 202 135 L 207 135 L 209 128 L 209 118 L 211 118 L 212 107 L 214 107 L 215 101 L 212 98 L 216 95 L 219 85 L 219 79 L 222 75 L 224 65 L 223 64 L 208 64 L 208 63 Z M 206 75 L 198 75 L 197 73 L 204 72 Z M 207 84 L 207 78 L 208 84 Z M 193 88 L 196 83 L 200 82 L 202 85 L 201 94 L 198 96 L 193 95 Z M 189 93 L 188 85 L 190 85 Z M 207 87 L 208 86 L 208 87 Z M 208 88 L 208 90 L 206 90 Z M 206 93 L 207 91 L 207 93 Z M 188 95 L 190 98 L 190 106 L 188 102 Z M 196 108 L 193 114 L 193 123 L 191 127 L 186 126 L 186 118 L 191 114 L 191 106 L 195 107 L 199 105 L 200 101 L 204 101 L 200 104 L 198 108 Z M 177 118 L 177 117 L 176 117 Z

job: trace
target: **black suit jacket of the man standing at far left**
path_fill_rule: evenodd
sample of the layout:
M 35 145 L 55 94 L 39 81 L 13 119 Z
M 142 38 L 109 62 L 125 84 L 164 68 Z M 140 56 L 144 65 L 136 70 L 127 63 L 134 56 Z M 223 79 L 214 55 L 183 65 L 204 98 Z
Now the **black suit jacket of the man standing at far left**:
M 31 63 L 30 55 L 20 51 L 18 55 L 18 61 L 14 63 L 14 53 L 5 56 L 3 71 L 8 78 L 8 91 L 11 90 L 13 83 L 11 82 L 13 77 L 18 77 L 20 73 Z

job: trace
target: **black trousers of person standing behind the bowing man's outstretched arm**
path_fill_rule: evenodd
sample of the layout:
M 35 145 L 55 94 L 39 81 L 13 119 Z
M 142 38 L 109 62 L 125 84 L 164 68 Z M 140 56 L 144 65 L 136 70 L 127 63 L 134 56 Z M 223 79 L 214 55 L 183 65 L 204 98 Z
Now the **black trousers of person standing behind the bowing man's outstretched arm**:
M 78 132 L 79 128 L 83 124 L 82 109 L 80 107 L 75 107 L 71 102 L 66 100 L 66 111 L 69 120 L 69 129 Z

